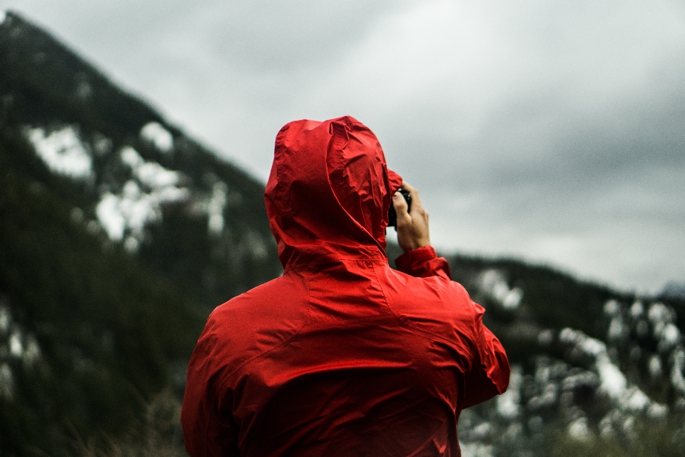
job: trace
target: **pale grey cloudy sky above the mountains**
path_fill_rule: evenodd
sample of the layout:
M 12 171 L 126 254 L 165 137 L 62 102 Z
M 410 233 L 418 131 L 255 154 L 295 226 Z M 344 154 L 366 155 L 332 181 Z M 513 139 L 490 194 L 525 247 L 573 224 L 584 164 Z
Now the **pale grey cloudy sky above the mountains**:
M 683 0 L 0 0 L 265 181 L 349 114 L 443 249 L 685 283 Z

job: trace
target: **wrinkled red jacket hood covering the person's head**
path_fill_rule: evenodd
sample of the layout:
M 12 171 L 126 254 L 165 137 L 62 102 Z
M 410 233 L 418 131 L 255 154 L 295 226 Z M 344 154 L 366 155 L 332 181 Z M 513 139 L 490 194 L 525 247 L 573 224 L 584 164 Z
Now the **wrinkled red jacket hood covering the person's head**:
M 356 119 L 285 124 L 264 196 L 283 267 L 385 259 L 387 210 L 401 184 L 376 136 Z

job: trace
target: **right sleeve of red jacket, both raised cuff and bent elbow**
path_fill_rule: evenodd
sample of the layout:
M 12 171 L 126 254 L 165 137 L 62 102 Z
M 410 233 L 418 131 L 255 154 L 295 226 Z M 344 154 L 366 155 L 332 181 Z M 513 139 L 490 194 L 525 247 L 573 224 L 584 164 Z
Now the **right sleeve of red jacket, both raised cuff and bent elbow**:
M 395 265 L 402 273 L 417 278 L 440 276 L 452 280 L 450 265 L 447 260 L 438 257 L 431 246 L 407 251 L 395 260 Z M 467 298 L 468 299 L 468 298 Z M 470 299 L 468 299 L 470 300 Z M 471 370 L 466 374 L 464 408 L 477 405 L 483 401 L 504 393 L 509 385 L 509 360 L 507 353 L 496 336 L 483 325 L 485 309 L 470 301 L 474 308 L 473 358 Z

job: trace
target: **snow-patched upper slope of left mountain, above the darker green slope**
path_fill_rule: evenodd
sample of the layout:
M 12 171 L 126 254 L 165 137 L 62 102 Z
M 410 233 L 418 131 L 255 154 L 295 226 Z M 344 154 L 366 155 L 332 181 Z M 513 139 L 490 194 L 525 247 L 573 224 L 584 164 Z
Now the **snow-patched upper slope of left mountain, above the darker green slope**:
M 13 13 L 0 69 L 1 125 L 71 180 L 51 190 L 86 224 L 209 308 L 280 273 L 262 183 Z

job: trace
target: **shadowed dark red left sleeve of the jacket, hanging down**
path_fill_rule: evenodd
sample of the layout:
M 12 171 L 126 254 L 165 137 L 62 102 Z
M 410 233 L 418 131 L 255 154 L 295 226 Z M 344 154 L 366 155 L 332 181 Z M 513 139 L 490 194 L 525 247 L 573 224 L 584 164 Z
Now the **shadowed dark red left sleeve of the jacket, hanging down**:
M 230 415 L 230 392 L 223 391 L 219 381 L 210 325 L 205 326 L 188 365 L 181 409 L 183 441 L 191 457 L 237 457 L 238 428 Z

